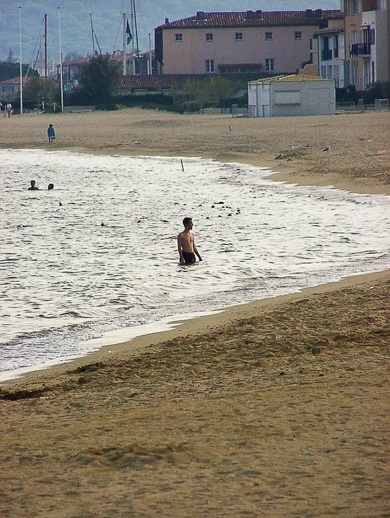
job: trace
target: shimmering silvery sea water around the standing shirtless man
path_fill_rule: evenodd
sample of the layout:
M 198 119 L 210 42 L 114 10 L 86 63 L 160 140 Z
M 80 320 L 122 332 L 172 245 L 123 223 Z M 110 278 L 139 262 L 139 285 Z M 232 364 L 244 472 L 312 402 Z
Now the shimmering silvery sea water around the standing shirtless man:
M 88 354 L 114 329 L 390 266 L 386 196 L 199 158 L 183 168 L 178 157 L 0 150 L 0 380 Z M 186 216 L 203 261 L 180 266 Z

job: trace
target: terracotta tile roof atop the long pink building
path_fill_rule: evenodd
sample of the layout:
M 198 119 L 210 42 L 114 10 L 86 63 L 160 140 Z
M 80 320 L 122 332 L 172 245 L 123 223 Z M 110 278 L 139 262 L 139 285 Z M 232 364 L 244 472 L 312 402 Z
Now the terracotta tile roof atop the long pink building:
M 196 16 L 182 18 L 160 25 L 157 29 L 218 28 L 218 27 L 268 27 L 275 25 L 318 25 L 321 19 L 343 18 L 339 9 L 317 9 L 306 11 L 244 11 L 203 12 Z

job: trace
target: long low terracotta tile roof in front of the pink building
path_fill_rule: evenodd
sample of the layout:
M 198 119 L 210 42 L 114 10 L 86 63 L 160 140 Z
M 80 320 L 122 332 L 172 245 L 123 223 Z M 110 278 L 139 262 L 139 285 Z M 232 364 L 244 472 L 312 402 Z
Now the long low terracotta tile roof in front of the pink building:
M 161 76 L 141 74 L 137 76 L 123 76 L 119 83 L 119 90 L 171 90 L 182 88 L 187 81 L 209 81 L 215 77 L 223 77 L 232 83 L 247 84 L 248 81 L 254 81 L 266 76 L 266 74 L 250 72 L 247 74 L 166 74 Z

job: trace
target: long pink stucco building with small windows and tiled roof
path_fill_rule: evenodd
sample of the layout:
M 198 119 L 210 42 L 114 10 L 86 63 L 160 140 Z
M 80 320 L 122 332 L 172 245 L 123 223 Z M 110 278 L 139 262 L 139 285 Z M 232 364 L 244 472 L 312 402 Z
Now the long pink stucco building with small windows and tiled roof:
M 341 10 L 197 12 L 155 29 L 159 74 L 295 73 Z

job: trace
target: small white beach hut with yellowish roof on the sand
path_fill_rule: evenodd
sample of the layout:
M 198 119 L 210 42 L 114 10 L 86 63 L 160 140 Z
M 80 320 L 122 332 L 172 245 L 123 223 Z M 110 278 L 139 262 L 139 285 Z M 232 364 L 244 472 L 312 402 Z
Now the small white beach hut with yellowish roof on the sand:
M 289 75 L 248 83 L 249 117 L 333 115 L 335 105 L 333 79 Z

